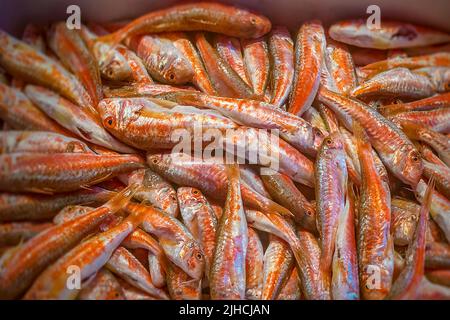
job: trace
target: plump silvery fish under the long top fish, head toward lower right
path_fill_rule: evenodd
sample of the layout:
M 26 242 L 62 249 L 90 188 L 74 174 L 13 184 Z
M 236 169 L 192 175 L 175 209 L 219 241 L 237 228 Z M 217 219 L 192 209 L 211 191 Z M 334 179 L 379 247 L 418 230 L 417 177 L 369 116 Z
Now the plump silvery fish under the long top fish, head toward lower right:
M 192 80 L 192 65 L 172 41 L 158 35 L 145 35 L 130 38 L 127 45 L 142 59 L 152 78 L 168 84 Z

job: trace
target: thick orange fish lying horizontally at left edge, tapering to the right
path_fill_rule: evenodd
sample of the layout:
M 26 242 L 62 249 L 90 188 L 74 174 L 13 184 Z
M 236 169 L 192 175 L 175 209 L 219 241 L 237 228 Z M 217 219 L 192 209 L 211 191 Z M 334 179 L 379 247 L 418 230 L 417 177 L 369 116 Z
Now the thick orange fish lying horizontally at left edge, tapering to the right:
M 65 192 L 140 169 L 135 155 L 14 153 L 0 155 L 0 190 Z

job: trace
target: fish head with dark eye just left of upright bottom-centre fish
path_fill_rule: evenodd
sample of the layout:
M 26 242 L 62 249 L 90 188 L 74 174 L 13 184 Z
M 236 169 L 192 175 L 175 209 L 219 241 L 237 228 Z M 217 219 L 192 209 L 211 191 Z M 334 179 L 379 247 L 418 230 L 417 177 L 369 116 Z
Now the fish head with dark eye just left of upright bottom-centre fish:
M 186 241 L 179 252 L 183 270 L 194 279 L 200 280 L 205 270 L 205 255 L 195 240 Z

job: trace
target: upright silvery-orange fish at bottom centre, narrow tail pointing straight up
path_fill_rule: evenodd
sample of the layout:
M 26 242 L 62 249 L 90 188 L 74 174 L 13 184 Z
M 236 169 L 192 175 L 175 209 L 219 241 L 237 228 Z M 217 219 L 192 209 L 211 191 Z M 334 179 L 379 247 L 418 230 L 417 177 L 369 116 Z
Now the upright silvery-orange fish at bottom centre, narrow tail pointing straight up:
M 227 167 L 228 193 L 220 218 L 216 250 L 211 264 L 209 285 L 211 299 L 244 299 L 248 229 L 241 197 L 239 167 Z

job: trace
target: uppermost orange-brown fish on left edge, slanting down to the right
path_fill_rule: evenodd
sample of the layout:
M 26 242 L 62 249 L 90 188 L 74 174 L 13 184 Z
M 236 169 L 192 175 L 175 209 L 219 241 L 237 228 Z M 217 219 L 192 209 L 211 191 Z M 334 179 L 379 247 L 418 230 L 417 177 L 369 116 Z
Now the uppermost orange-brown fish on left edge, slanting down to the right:
M 14 76 L 47 86 L 82 108 L 95 112 L 93 100 L 74 75 L 56 60 L 1 30 L 0 65 Z

